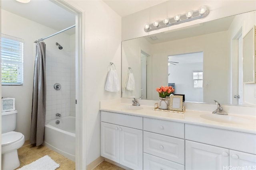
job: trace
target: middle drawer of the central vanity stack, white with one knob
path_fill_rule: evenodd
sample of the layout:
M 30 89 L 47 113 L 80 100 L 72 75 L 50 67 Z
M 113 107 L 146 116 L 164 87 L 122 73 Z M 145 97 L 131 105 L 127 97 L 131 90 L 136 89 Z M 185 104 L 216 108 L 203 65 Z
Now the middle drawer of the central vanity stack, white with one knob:
M 184 139 L 144 131 L 143 152 L 184 164 Z

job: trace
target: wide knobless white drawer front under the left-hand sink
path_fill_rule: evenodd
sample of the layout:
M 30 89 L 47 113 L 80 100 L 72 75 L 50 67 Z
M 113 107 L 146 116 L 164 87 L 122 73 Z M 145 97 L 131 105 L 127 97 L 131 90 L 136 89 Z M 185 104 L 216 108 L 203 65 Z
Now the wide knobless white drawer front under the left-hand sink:
M 138 116 L 101 111 L 101 121 L 142 130 L 143 119 Z

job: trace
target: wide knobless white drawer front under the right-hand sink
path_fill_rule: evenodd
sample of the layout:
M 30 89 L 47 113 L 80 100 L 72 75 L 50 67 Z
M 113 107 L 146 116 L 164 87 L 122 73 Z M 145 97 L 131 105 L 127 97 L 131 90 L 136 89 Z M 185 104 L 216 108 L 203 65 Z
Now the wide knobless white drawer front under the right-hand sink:
M 256 135 L 187 124 L 185 130 L 190 141 L 256 154 Z

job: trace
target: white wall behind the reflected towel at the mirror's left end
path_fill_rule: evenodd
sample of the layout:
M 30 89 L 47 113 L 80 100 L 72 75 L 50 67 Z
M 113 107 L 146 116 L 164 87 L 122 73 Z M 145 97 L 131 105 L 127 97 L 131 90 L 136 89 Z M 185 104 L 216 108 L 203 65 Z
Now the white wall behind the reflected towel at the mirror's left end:
M 140 53 L 144 51 L 151 55 L 151 44 L 144 38 L 122 42 L 122 97 L 140 98 L 141 66 Z M 150 59 L 150 56 L 148 57 Z M 132 68 L 135 80 L 135 90 L 125 88 L 128 67 Z

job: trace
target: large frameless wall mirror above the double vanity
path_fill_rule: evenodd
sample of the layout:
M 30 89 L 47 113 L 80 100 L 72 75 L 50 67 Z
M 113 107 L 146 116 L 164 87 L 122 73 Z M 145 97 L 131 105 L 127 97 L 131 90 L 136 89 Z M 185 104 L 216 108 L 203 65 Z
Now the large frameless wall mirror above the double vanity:
M 242 74 L 254 25 L 256 11 L 122 41 L 122 97 L 158 100 L 156 88 L 172 85 L 185 102 L 256 106 L 256 84 Z

